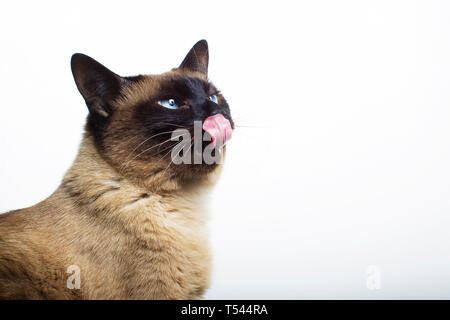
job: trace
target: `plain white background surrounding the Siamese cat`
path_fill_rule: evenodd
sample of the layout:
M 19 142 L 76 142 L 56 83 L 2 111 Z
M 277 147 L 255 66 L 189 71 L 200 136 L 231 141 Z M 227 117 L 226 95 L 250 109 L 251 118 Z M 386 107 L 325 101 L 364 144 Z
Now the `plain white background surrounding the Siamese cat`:
M 2 2 L 0 211 L 50 195 L 77 153 L 74 52 L 160 73 L 206 38 L 242 126 L 206 298 L 450 298 L 449 17 L 445 1 Z

